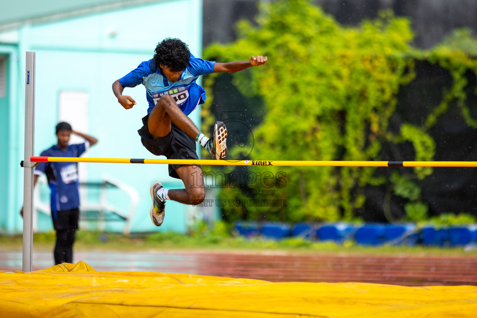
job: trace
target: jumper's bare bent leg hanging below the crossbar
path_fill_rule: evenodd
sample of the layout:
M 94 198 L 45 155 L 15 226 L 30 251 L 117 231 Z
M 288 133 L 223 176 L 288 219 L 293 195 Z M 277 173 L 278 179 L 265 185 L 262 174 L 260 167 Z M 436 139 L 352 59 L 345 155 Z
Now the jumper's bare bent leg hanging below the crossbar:
M 170 189 L 168 193 L 169 198 L 189 205 L 198 205 L 202 203 L 206 197 L 202 169 L 196 165 L 186 164 L 177 168 L 176 173 L 184 182 L 186 188 Z

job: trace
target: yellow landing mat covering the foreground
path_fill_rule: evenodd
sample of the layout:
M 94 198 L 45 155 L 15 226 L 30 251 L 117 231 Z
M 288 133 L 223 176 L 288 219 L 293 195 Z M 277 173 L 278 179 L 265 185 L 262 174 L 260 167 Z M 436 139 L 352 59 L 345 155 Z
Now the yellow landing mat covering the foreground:
M 477 287 L 270 283 L 99 272 L 84 262 L 0 271 L 1 317 L 477 317 Z

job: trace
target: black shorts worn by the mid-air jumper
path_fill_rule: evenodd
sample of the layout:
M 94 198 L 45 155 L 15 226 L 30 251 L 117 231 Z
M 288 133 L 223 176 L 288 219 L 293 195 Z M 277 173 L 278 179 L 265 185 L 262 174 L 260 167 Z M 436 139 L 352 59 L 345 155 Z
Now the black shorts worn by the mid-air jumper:
M 143 127 L 137 133 L 141 136 L 141 143 L 151 154 L 166 156 L 167 159 L 199 159 L 194 138 L 171 123 L 171 132 L 168 135 L 154 139 L 147 129 L 147 118 L 149 118 L 149 114 L 143 117 Z M 180 179 L 176 169 L 183 165 L 169 164 L 169 175 Z M 197 166 L 201 168 L 199 164 Z

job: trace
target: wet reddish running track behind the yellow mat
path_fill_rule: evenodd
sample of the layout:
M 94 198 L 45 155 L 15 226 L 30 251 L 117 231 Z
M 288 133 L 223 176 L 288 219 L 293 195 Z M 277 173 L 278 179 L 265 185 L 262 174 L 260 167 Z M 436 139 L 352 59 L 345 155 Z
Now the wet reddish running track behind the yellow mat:
M 404 286 L 476 285 L 477 258 L 262 255 L 224 253 L 77 252 L 100 271 L 150 271 L 263 279 L 274 282 L 365 282 Z M 33 253 L 33 270 L 53 265 Z M 0 252 L 1 270 L 20 270 L 21 252 Z

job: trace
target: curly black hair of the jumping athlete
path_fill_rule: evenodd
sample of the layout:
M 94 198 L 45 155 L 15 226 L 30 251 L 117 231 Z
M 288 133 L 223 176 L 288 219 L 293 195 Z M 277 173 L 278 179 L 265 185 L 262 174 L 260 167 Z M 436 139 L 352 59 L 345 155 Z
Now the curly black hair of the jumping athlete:
M 189 46 L 179 39 L 166 38 L 157 43 L 154 51 L 156 52 L 154 61 L 156 61 L 157 67 L 162 64 L 171 71 L 184 70 L 190 60 Z

